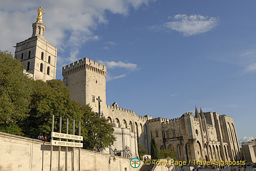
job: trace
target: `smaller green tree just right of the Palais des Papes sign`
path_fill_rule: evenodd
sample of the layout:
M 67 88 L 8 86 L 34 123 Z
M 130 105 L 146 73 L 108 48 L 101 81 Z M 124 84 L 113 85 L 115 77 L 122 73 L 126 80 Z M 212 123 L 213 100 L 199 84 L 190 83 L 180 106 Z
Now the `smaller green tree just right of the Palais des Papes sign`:
M 96 150 L 104 150 L 114 144 L 116 140 L 113 135 L 113 125 L 108 122 L 105 117 L 99 117 L 97 113 L 92 111 L 89 105 L 81 107 L 83 111 L 83 127 L 86 129 L 87 135 L 84 139 L 84 146 L 88 150 L 95 148 Z

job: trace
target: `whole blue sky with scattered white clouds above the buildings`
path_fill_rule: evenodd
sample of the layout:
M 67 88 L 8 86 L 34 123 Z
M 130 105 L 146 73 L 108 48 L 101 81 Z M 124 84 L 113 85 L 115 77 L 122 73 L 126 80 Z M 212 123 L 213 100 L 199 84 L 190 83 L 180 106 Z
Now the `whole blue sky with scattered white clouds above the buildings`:
M 1 50 L 31 36 L 43 6 L 57 79 L 76 60 L 101 61 L 108 104 L 169 119 L 197 105 L 256 138 L 256 1 L 0 2 Z

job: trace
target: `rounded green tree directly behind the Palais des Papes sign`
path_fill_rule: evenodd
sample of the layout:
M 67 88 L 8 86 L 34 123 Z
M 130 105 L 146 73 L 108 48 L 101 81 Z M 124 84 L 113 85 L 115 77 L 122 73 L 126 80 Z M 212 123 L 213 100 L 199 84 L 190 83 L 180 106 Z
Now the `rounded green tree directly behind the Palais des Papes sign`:
M 29 117 L 23 124 L 24 133 L 30 138 L 36 138 L 39 133 L 51 136 L 52 115 L 55 116 L 54 131 L 59 131 L 59 117 L 62 117 L 62 132 L 66 133 L 66 118 L 69 118 L 69 133 L 73 134 L 72 121 L 76 120 L 78 133 L 78 121 L 82 121 L 80 106 L 69 99 L 70 90 L 61 80 L 43 82 L 33 81 L 33 94 L 29 107 Z M 81 135 L 84 135 L 81 128 Z

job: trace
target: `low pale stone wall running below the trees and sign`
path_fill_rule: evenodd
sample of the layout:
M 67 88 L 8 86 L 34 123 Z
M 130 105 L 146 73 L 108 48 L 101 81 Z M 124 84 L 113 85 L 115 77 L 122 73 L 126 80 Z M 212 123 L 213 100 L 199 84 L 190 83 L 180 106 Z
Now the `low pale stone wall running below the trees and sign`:
M 38 171 L 50 169 L 50 143 L 0 132 L 0 171 Z M 65 150 L 60 152 L 60 170 L 65 170 Z M 130 159 L 81 149 L 80 170 L 130 170 Z M 72 166 L 72 148 L 68 149 L 68 170 Z M 74 170 L 78 169 L 78 149 L 74 151 Z M 53 148 L 52 170 L 58 167 L 58 147 Z

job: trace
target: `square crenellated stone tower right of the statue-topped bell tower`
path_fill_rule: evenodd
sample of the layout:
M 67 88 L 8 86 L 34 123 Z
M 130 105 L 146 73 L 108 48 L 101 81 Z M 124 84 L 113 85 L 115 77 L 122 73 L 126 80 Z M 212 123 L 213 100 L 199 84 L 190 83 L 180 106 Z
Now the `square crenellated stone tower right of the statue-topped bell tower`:
M 101 111 L 106 107 L 106 66 L 88 58 L 80 59 L 62 68 L 64 84 L 71 90 L 70 99 L 80 105 L 90 104 L 98 112 L 98 101 L 101 100 Z

